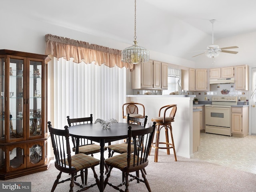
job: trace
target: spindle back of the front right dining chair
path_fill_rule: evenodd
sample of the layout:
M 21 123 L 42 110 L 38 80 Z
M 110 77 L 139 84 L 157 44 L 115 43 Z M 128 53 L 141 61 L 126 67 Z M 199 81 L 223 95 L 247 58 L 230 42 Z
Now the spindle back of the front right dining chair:
M 138 171 L 148 165 L 148 154 L 155 128 L 156 122 L 153 122 L 152 127 L 141 130 L 132 130 L 131 126 L 128 127 L 127 168 L 124 168 L 124 172 Z M 131 140 L 134 142 L 132 143 Z M 131 150 L 131 145 L 134 145 L 134 152 Z M 142 146 L 142 148 L 136 146 Z

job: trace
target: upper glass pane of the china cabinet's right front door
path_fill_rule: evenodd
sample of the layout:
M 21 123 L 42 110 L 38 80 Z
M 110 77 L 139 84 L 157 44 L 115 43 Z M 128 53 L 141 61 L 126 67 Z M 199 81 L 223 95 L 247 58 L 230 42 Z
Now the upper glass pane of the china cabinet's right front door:
M 29 133 L 42 136 L 42 61 L 29 61 Z

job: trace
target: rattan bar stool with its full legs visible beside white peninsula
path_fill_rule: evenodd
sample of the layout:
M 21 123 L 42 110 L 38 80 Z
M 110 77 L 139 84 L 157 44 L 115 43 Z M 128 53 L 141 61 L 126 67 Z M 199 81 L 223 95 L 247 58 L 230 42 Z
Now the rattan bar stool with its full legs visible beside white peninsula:
M 170 108 L 172 109 L 168 117 L 166 116 L 166 111 Z M 162 111 L 164 110 L 164 116 L 161 116 L 161 110 Z M 170 155 L 170 148 L 173 148 L 174 158 L 175 158 L 175 161 L 177 161 L 175 147 L 174 147 L 174 140 L 172 136 L 172 122 L 174 122 L 174 116 L 176 114 L 176 110 L 177 110 L 176 104 L 166 105 L 160 108 L 158 117 L 152 118 L 152 122 L 156 122 L 156 142 L 152 142 L 151 144 L 151 147 L 154 147 L 156 149 L 154 162 L 158 162 L 158 149 L 166 149 L 167 154 Z M 166 142 L 159 142 L 160 130 L 163 127 L 165 129 Z M 168 129 L 170 130 L 172 143 L 169 142 Z M 159 144 L 165 144 L 166 146 L 160 147 Z

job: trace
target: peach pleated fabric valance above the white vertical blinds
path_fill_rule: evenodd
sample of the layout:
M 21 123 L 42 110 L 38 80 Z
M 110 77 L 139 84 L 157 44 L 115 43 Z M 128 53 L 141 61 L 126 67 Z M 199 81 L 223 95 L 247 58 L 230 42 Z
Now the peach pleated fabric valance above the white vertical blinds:
M 121 51 L 117 49 L 89 44 L 88 42 L 59 37 L 52 34 L 46 34 L 45 40 L 45 54 L 52 54 L 57 59 L 63 57 L 66 60 L 70 60 L 70 58 L 74 58 L 73 62 L 75 63 L 83 61 L 89 64 L 95 62 L 98 66 L 105 64 L 108 67 L 114 67 L 116 65 L 120 68 L 133 68 L 132 64 L 121 61 Z

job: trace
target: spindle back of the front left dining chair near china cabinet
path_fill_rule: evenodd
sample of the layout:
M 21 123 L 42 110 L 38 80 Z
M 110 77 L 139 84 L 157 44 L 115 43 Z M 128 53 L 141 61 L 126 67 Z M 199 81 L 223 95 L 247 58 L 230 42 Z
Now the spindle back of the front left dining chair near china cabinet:
M 71 166 L 71 150 L 69 143 L 68 126 L 64 130 L 54 129 L 51 122 L 48 122 L 52 147 L 55 156 L 55 167 L 65 173 L 76 172 L 76 169 Z

